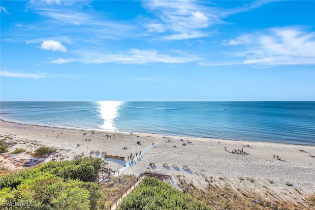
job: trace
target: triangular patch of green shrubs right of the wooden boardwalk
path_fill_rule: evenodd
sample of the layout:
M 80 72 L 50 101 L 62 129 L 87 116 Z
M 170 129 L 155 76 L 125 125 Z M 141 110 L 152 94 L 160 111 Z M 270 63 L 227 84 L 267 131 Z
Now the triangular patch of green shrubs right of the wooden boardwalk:
M 211 210 L 170 184 L 144 178 L 118 206 L 118 210 Z

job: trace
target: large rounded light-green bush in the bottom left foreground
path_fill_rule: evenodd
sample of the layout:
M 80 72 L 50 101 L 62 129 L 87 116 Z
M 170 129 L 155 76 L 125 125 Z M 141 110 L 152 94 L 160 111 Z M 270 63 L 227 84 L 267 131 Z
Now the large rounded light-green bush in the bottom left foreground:
M 64 181 L 52 174 L 42 173 L 35 179 L 25 180 L 13 191 L 12 201 L 29 201 L 33 210 L 75 209 L 90 210 L 90 193 L 80 187 L 79 180 Z M 8 199 L 8 201 L 10 201 Z

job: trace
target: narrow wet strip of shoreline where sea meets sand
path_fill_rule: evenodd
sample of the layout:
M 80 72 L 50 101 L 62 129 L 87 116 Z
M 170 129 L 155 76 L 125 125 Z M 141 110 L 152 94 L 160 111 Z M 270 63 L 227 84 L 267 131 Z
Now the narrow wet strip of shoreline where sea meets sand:
M 105 130 L 105 129 L 92 129 L 92 128 L 77 128 L 77 127 L 63 127 L 63 126 L 55 126 L 55 125 L 41 125 L 41 124 L 34 124 L 34 123 L 27 123 L 27 122 L 19 122 L 19 121 L 14 121 L 14 120 L 7 120 L 7 119 L 2 119 L 0 118 L 0 121 L 4 122 L 10 122 L 10 123 L 16 123 L 16 124 L 22 124 L 22 125 L 32 125 L 32 126 L 39 126 L 39 127 L 49 127 L 49 128 L 60 128 L 60 129 L 69 129 L 69 130 L 81 130 L 81 131 L 99 131 L 99 132 L 109 132 L 109 133 L 122 133 L 122 134 L 128 134 L 130 132 L 128 131 L 114 131 L 114 130 Z M 147 134 L 147 135 L 158 135 L 158 136 L 164 136 L 163 134 L 158 134 L 158 133 L 145 133 L 145 132 L 140 132 L 138 134 Z M 191 139 L 216 139 L 216 140 L 224 140 L 224 141 L 234 141 L 234 142 L 258 142 L 258 143 L 276 143 L 276 144 L 287 144 L 287 145 L 297 145 L 297 146 L 315 146 L 311 144 L 293 144 L 293 143 L 286 143 L 286 142 L 277 142 L 277 141 L 250 141 L 250 140 L 236 140 L 236 139 L 222 139 L 222 138 L 212 138 L 212 137 L 196 137 L 196 136 L 177 136 L 173 135 L 173 137 L 176 138 L 191 138 Z

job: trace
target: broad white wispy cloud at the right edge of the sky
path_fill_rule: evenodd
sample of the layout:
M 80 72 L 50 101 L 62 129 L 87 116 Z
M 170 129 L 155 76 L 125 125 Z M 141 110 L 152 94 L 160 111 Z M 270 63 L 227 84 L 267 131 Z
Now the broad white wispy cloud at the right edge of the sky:
M 298 27 L 272 28 L 262 32 L 245 34 L 222 45 L 234 52 L 234 57 L 244 60 L 200 62 L 204 66 L 261 64 L 303 65 L 315 64 L 315 33 Z M 237 47 L 236 50 L 233 47 Z M 242 49 L 242 50 L 241 50 Z

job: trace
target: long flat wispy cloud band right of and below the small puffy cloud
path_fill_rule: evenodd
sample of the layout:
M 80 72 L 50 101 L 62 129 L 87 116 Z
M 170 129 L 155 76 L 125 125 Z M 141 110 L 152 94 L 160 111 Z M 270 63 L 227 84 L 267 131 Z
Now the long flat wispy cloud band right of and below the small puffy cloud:
M 102 54 L 91 51 L 77 51 L 76 58 L 60 58 L 52 60 L 50 63 L 65 63 L 65 62 L 83 62 L 83 63 L 122 63 L 122 64 L 146 64 L 153 62 L 161 63 L 186 63 L 200 60 L 199 57 L 192 55 L 177 55 L 159 53 L 156 50 L 139 50 L 131 49 L 119 54 Z

